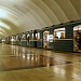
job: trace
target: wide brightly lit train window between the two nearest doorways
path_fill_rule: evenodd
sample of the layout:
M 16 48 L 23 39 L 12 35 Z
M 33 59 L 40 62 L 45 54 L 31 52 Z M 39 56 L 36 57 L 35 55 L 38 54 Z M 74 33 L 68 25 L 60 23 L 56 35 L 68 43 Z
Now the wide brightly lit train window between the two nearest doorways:
M 65 28 L 54 29 L 54 39 L 65 39 Z

